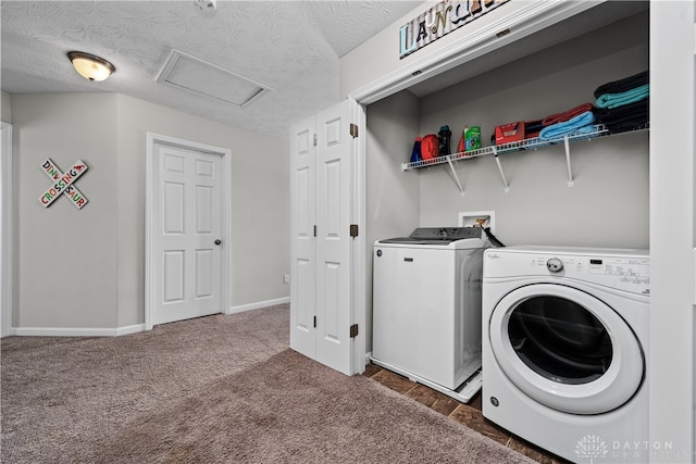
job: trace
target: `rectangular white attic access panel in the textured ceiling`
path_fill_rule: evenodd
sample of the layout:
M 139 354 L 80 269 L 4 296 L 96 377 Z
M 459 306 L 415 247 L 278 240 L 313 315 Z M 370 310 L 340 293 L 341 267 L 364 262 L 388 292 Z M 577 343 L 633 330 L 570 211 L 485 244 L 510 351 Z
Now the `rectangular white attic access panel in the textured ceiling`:
M 245 108 L 273 90 L 176 49 L 170 52 L 156 80 L 239 108 Z

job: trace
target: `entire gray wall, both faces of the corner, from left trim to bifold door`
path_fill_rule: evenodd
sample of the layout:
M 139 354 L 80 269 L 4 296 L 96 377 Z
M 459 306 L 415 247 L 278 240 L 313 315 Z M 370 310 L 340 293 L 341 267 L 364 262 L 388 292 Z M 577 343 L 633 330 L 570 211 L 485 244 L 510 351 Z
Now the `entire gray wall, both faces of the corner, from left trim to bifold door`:
M 232 149 L 232 305 L 287 298 L 287 143 L 121 95 L 13 95 L 16 327 L 141 324 L 146 133 Z M 44 209 L 40 162 L 89 171 L 89 199 Z

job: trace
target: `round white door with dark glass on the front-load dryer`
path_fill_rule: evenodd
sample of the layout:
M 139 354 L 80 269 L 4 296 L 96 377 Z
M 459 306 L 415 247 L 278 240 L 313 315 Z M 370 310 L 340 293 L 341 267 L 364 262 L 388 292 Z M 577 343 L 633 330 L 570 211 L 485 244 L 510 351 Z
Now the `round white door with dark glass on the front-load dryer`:
M 599 299 L 554 284 L 520 287 L 496 305 L 493 353 L 530 398 L 572 414 L 621 406 L 643 381 L 641 344 L 625 321 Z

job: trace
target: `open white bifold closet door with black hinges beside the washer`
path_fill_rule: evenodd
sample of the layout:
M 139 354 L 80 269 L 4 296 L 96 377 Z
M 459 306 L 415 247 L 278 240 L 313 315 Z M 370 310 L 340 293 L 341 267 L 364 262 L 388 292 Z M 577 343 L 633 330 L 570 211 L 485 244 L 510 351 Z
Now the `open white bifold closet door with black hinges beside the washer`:
M 290 348 L 349 375 L 362 372 L 353 363 L 356 109 L 346 100 L 290 133 Z

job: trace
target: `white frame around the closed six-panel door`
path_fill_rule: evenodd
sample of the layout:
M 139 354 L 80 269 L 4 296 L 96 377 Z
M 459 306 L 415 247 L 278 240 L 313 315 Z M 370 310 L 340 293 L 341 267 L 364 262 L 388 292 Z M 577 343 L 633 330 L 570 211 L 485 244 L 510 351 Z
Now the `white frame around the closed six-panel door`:
M 227 148 L 214 147 L 211 145 L 199 143 L 190 140 L 184 140 L 170 136 L 164 136 L 154 133 L 147 133 L 147 149 L 146 149 L 146 188 L 145 188 L 145 329 L 152 329 L 152 308 L 154 303 L 152 301 L 152 281 L 151 278 L 154 275 L 152 269 L 152 249 L 153 249 L 153 198 L 156 188 L 154 185 L 154 145 L 169 145 L 177 148 L 202 151 L 211 154 L 222 156 L 223 175 L 222 175 L 222 234 L 223 239 L 223 254 L 222 254 L 222 294 L 221 304 L 223 314 L 231 314 L 231 275 L 232 275 L 232 150 Z

